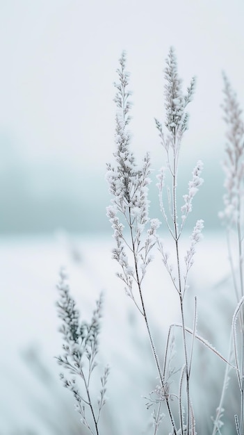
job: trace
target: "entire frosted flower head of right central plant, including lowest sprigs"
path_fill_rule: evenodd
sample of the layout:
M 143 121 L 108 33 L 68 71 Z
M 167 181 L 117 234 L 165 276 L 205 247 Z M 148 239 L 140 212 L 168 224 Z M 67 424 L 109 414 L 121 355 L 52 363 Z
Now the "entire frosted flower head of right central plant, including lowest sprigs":
M 177 208 L 177 172 L 179 163 L 179 149 L 181 145 L 181 138 L 187 128 L 188 113 L 186 113 L 187 104 L 192 101 L 193 92 L 195 91 L 195 79 L 190 83 L 187 90 L 187 94 L 184 96 L 181 90 L 181 79 L 179 79 L 179 74 L 177 71 L 177 60 L 174 55 L 174 50 L 170 49 L 170 54 L 166 60 L 167 67 L 165 69 L 165 112 L 166 121 L 165 126 L 170 132 L 167 138 L 165 138 L 163 133 L 163 126 L 158 120 L 156 120 L 156 128 L 159 131 L 159 136 L 161 138 L 161 144 L 166 151 L 166 163 L 167 167 L 162 167 L 161 172 L 158 174 L 157 187 L 158 187 L 158 197 L 161 208 L 161 213 L 168 227 L 168 230 L 174 239 L 176 244 L 177 252 L 177 264 L 179 265 L 179 237 L 183 230 L 184 224 L 188 217 L 188 214 L 193 208 L 193 198 L 198 192 L 200 186 L 203 183 L 201 178 L 201 173 L 203 169 L 202 161 L 198 161 L 197 165 L 193 170 L 193 177 L 188 183 L 188 193 L 183 196 L 184 205 L 181 206 L 181 224 L 179 225 L 178 220 L 178 208 Z M 171 183 L 167 183 L 168 174 L 170 174 Z M 170 186 L 171 184 L 171 186 Z M 165 199 L 163 197 L 164 190 L 167 190 L 165 194 Z M 165 205 L 166 204 L 166 205 Z M 203 221 L 197 221 L 193 233 L 191 236 L 190 250 L 186 252 L 185 264 L 186 273 L 184 274 L 184 283 L 181 282 L 180 268 L 178 271 L 174 268 L 174 261 L 170 262 L 170 253 L 165 249 L 165 243 L 157 237 L 158 249 L 161 252 L 163 264 L 166 270 L 170 274 L 174 288 L 176 288 L 179 295 L 184 295 L 186 288 L 186 277 L 188 270 L 193 264 L 193 255 L 195 254 L 194 244 L 197 238 L 197 230 L 202 229 Z

